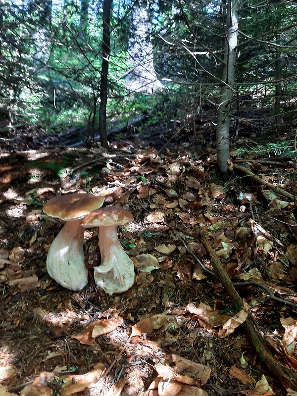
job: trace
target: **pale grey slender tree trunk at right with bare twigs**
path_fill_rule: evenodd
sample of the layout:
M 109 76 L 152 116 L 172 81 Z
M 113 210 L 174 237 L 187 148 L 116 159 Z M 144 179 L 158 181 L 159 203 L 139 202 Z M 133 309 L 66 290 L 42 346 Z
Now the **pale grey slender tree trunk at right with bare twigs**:
M 217 123 L 217 160 L 220 171 L 224 178 L 228 177 L 229 158 L 229 132 L 232 115 L 233 86 L 235 82 L 236 46 L 238 36 L 238 7 L 239 0 L 228 0 L 226 38 L 224 50 L 224 68 L 222 80 L 224 85 L 221 89 L 220 105 Z

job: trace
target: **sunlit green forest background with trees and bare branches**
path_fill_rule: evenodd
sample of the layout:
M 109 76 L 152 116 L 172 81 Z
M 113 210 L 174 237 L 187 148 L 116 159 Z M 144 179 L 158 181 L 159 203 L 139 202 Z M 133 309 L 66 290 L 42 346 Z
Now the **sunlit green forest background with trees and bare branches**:
M 294 128 L 296 27 L 294 1 L 2 0 L 2 144 L 35 124 L 107 148 L 129 121 L 195 134 L 210 112 L 227 176 L 230 128 Z

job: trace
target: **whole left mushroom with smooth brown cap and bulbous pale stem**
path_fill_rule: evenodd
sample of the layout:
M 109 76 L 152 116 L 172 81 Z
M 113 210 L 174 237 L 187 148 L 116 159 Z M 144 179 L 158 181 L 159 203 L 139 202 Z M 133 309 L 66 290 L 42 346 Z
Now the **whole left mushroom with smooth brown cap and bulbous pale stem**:
M 52 241 L 47 270 L 51 278 L 66 289 L 81 290 L 88 283 L 88 269 L 84 262 L 84 229 L 80 226 L 86 214 L 102 206 L 104 197 L 93 194 L 69 194 L 49 199 L 44 212 L 66 221 Z

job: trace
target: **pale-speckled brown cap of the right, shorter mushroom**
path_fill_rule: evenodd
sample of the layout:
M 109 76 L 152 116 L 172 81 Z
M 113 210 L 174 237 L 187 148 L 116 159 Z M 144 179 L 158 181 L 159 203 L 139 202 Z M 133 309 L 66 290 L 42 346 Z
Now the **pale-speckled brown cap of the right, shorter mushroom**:
M 113 225 L 120 226 L 133 220 L 134 217 L 129 210 L 123 207 L 106 206 L 88 214 L 81 222 L 81 226 L 85 228 Z

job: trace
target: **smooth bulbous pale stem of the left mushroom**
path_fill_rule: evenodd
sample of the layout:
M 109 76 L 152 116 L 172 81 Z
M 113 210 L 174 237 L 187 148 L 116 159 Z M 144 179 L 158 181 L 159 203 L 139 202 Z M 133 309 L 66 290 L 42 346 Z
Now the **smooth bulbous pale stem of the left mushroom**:
M 81 290 L 88 283 L 83 252 L 84 229 L 81 220 L 68 221 L 49 247 L 47 270 L 59 285 Z

